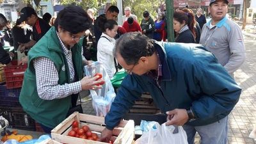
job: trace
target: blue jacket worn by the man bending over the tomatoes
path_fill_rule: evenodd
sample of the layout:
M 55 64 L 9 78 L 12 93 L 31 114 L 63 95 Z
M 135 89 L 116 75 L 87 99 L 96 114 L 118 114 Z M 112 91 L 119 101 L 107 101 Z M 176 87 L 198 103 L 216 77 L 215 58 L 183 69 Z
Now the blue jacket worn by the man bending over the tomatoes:
M 191 110 L 196 120 L 188 125 L 207 125 L 227 116 L 239 100 L 241 88 L 218 60 L 202 45 L 155 44 L 163 65 L 159 85 L 147 74 L 125 77 L 105 124 L 113 129 L 141 93 L 149 92 L 163 113 L 175 108 Z

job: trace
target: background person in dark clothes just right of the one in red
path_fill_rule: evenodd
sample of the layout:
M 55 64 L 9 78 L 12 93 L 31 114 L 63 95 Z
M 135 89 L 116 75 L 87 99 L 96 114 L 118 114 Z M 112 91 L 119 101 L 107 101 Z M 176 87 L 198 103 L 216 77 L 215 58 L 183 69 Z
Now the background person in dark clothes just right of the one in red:
M 140 27 L 141 31 L 144 35 L 148 36 L 148 38 L 153 38 L 153 33 L 155 31 L 155 22 L 150 17 L 150 14 L 147 10 L 143 12 L 144 19 L 141 21 Z

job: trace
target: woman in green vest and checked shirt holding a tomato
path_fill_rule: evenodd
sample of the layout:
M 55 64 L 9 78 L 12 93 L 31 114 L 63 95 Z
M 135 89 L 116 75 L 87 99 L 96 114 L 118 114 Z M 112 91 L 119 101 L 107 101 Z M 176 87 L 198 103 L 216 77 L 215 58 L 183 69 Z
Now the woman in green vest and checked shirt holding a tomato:
M 97 90 L 104 83 L 99 76 L 83 77 L 81 47 L 86 29 L 92 26 L 79 6 L 67 6 L 58 13 L 54 26 L 28 53 L 28 68 L 19 102 L 45 132 L 60 124 L 76 106 L 78 93 Z

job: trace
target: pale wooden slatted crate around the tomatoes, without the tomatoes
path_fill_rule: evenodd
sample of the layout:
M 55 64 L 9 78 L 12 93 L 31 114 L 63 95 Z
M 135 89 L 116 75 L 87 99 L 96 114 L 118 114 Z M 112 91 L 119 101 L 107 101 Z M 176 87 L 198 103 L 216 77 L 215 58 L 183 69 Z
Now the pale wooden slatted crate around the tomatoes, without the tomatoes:
M 51 131 L 52 140 L 58 141 L 60 143 L 88 143 L 88 144 L 100 144 L 104 142 L 84 140 L 81 138 L 75 138 L 67 136 L 68 132 L 72 129 L 72 122 L 77 120 L 79 122 L 79 127 L 83 125 L 88 125 L 92 132 L 95 132 L 100 136 L 100 133 L 105 128 L 104 117 L 86 115 L 74 112 L 72 115 L 68 116 L 61 124 L 57 125 Z M 113 137 L 111 140 L 115 144 L 131 144 L 134 140 L 134 121 L 133 120 L 122 120 L 118 127 L 113 129 Z

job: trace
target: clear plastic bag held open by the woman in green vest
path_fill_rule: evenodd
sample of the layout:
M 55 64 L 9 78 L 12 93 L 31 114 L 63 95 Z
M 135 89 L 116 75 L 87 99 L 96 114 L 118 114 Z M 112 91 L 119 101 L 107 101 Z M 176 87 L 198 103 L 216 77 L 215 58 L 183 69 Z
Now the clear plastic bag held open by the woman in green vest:
M 102 63 L 95 61 L 92 65 L 84 66 L 86 76 L 94 76 L 96 73 L 102 74 L 105 84 L 99 90 L 90 90 L 92 96 L 92 106 L 97 116 L 106 116 L 111 104 L 116 97 L 115 90 L 111 84 L 109 76 Z

